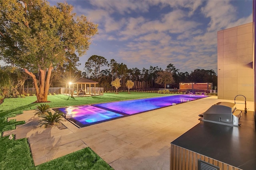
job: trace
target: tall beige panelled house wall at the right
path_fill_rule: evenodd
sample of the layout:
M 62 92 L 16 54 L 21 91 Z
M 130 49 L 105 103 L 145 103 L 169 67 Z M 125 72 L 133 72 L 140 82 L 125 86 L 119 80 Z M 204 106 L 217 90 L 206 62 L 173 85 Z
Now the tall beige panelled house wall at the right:
M 253 34 L 253 22 L 217 32 L 218 99 L 254 101 Z

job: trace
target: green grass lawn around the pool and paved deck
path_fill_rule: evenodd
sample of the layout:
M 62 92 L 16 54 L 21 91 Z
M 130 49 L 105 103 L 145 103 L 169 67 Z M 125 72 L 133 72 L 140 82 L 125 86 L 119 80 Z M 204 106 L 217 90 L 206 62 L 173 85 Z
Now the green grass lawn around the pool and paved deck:
M 75 105 L 88 105 L 94 103 L 106 103 L 111 101 L 121 101 L 130 99 L 141 99 L 148 97 L 160 97 L 172 94 L 158 94 L 158 93 L 105 93 L 103 96 L 92 96 L 92 97 L 68 97 L 66 95 L 48 95 L 49 103 L 51 108 L 54 107 L 66 107 Z M 0 133 L 15 129 L 16 125 L 23 124 L 24 121 L 10 120 L 7 121 L 8 117 L 15 117 L 16 114 L 22 114 L 24 110 L 36 109 L 39 103 L 33 103 L 36 101 L 35 96 L 25 98 L 10 98 L 4 99 L 4 103 L 0 105 Z M 94 151 L 90 148 L 84 148 L 72 154 L 62 156 L 55 160 L 46 162 L 44 164 L 34 166 L 30 148 L 28 145 L 28 139 L 23 138 L 19 140 L 9 140 L 8 136 L 0 136 L 0 169 L 104 169 L 111 170 L 112 168 L 104 162 Z M 40 147 L 40 146 L 38 146 Z

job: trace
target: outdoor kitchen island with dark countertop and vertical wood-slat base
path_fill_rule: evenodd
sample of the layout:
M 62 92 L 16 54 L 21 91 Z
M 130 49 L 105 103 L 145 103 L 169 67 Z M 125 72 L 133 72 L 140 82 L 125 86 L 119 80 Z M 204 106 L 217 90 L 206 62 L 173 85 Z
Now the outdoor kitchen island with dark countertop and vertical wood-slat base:
M 239 127 L 200 121 L 171 142 L 171 170 L 255 170 L 254 113 L 242 113 Z

